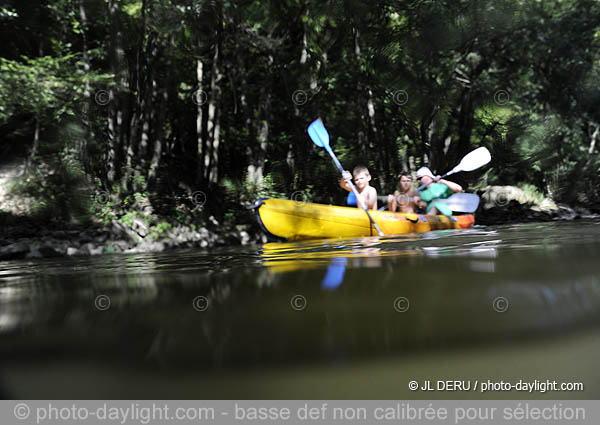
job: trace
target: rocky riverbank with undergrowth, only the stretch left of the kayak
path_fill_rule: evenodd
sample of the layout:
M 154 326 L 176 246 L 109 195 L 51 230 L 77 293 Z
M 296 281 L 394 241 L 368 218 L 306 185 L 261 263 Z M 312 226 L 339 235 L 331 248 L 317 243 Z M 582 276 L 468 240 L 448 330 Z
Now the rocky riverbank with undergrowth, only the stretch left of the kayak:
M 30 183 L 24 175 L 23 160 L 0 167 L 0 261 L 266 242 L 253 211 L 229 202 L 229 214 L 219 214 L 224 201 L 205 206 L 204 192 L 177 197 L 176 206 L 169 209 L 164 203 L 172 199 L 167 197 L 154 203 L 139 193 L 119 199 L 88 185 L 81 193 L 71 194 L 63 209 L 44 211 L 40 206 L 47 205 L 45 201 L 22 189 Z M 21 188 L 15 190 L 15 184 Z M 215 212 L 209 208 L 213 206 Z

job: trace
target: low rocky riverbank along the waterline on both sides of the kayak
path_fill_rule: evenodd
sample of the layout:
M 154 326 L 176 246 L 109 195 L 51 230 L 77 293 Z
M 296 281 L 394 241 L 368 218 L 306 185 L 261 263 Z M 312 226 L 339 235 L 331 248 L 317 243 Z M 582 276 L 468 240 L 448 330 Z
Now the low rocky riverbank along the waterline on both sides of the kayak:
M 477 194 L 481 203 L 475 214 L 476 223 L 482 225 L 599 217 L 599 211 L 535 198 L 514 186 L 488 186 Z M 212 215 L 203 220 L 203 225 L 164 220 L 168 219 L 153 218 L 154 222 L 167 223 L 165 230 L 157 234 L 148 221 L 135 218 L 130 225 L 113 220 L 103 226 L 60 222 L 50 226 L 26 216 L 0 212 L 0 260 L 209 249 L 267 242 L 254 214 L 244 206 L 238 206 L 235 219 L 228 222 L 219 222 Z

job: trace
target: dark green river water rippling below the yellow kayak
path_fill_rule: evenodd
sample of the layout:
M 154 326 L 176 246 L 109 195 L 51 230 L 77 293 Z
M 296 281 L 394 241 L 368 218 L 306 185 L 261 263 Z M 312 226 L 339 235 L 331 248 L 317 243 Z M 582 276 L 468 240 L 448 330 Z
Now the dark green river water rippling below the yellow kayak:
M 599 398 L 599 254 L 590 220 L 3 262 L 0 395 Z M 585 389 L 408 389 L 446 379 Z

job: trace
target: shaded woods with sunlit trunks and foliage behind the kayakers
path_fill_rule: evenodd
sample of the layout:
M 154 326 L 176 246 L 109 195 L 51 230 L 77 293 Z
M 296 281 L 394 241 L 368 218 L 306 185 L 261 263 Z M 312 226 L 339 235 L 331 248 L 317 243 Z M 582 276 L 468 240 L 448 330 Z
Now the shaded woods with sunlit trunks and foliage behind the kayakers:
M 4 1 L 0 166 L 24 165 L 0 183 L 44 220 L 157 232 L 258 196 L 341 203 L 322 117 L 382 193 L 486 146 L 465 187 L 596 206 L 599 29 L 593 0 Z

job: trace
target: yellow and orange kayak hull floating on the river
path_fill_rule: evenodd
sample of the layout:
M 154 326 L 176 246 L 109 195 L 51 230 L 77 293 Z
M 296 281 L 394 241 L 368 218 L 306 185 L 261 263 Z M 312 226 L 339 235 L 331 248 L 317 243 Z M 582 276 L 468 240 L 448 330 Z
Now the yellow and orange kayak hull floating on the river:
M 255 210 L 263 230 L 279 239 L 353 238 L 377 234 L 365 212 L 358 208 L 260 199 L 255 203 Z M 386 235 L 466 229 L 475 222 L 472 215 L 446 217 L 387 211 L 370 211 L 370 214 Z

